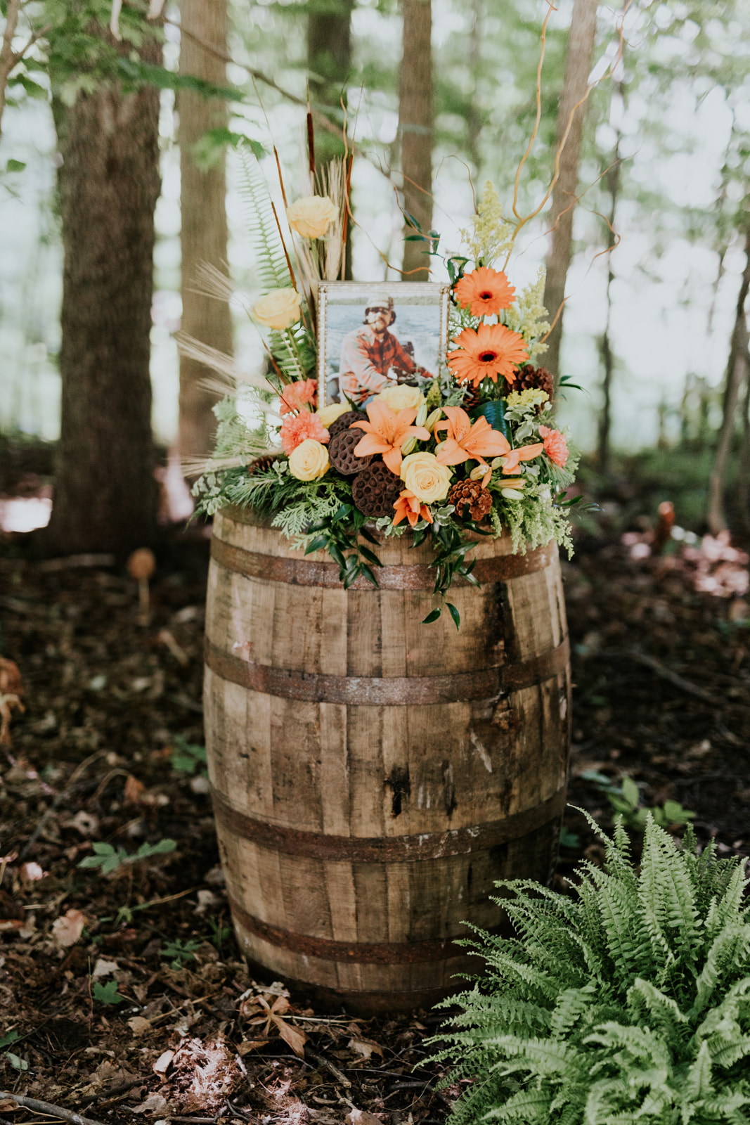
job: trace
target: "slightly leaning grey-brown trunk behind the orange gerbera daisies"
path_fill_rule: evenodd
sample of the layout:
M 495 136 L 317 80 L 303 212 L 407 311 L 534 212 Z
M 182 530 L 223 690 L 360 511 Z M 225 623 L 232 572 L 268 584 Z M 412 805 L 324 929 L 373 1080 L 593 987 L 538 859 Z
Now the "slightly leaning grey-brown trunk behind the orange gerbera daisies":
M 573 0 L 568 35 L 566 76 L 558 108 L 557 148 L 562 144 L 573 106 L 586 93 L 596 39 L 596 8 L 597 0 Z M 584 109 L 585 106 L 581 106 L 573 116 L 572 126 L 560 158 L 560 176 L 552 192 L 552 210 L 550 213 L 552 248 L 546 260 L 546 286 L 544 288 L 544 304 L 552 317 L 557 315 L 564 299 L 566 277 L 572 256 L 573 212 L 578 188 L 578 162 L 584 136 Z M 562 315 L 563 310 L 560 312 L 558 323 L 550 333 L 549 350 L 544 357 L 546 367 L 555 376 L 559 374 L 560 367 Z

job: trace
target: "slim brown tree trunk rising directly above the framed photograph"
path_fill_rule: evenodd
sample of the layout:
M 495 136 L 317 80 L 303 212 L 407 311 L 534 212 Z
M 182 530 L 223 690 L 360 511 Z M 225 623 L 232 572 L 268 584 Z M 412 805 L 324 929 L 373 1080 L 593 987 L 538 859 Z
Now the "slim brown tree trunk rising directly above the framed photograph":
M 404 209 L 422 230 L 432 227 L 432 7 L 431 0 L 403 0 L 404 56 L 399 80 L 398 132 L 401 137 Z M 404 234 L 414 234 L 405 226 Z M 404 280 L 428 281 L 430 259 L 424 242 L 404 245 Z

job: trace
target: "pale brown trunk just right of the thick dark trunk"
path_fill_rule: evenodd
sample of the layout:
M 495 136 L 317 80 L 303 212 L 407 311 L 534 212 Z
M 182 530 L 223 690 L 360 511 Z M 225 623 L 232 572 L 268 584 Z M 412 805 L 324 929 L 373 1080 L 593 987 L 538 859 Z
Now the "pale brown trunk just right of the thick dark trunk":
M 191 74 L 215 86 L 226 84 L 226 64 L 196 39 L 226 53 L 226 0 L 181 0 L 180 74 Z M 222 352 L 232 352 L 232 316 L 220 300 L 193 292 L 201 261 L 222 269 L 227 258 L 226 174 L 224 147 L 214 163 L 201 170 L 195 146 L 208 129 L 226 128 L 226 102 L 208 100 L 192 90 L 180 90 L 180 198 L 182 206 L 182 332 Z M 216 396 L 198 386 L 208 374 L 197 360 L 180 356 L 181 457 L 207 457 L 214 448 Z

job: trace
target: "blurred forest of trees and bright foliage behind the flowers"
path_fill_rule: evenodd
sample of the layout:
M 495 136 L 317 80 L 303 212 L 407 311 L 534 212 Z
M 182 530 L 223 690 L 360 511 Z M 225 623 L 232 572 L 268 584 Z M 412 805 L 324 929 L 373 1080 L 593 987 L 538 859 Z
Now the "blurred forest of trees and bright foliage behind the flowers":
M 160 90 L 159 153 L 151 166 L 133 163 L 120 174 L 124 182 L 150 184 L 150 199 L 138 198 L 136 209 L 147 216 L 155 204 L 152 323 L 145 326 L 153 404 L 143 410 L 152 415 L 157 457 L 174 450 L 178 438 L 180 451 L 195 456 L 208 452 L 213 420 L 210 399 L 195 387 L 205 369 L 183 359 L 180 372 L 174 333 L 181 321 L 206 343 L 234 346 L 241 369 L 262 362 L 260 340 L 243 314 L 231 324 L 217 303 L 191 292 L 198 261 L 219 264 L 224 258 L 237 287 L 251 297 L 259 292 L 238 152 L 250 144 L 273 183 L 275 144 L 296 195 L 308 96 L 318 160 L 338 151 L 346 106 L 355 151 L 350 272 L 358 280 L 398 278 L 399 268 L 423 262 L 421 244 L 404 242 L 405 209 L 437 230 L 450 251 L 460 249 L 459 232 L 486 179 L 510 210 L 534 129 L 540 33 L 549 14 L 540 127 L 517 184 L 521 215 L 535 212 L 548 195 L 570 109 L 581 91 L 588 97 L 572 119 L 560 180 L 522 232 L 510 272 L 523 286 L 546 262 L 552 315 L 562 294 L 568 298 L 544 360 L 584 388 L 569 393 L 563 418 L 599 483 L 632 475 L 622 454 L 642 453 L 639 474 L 651 487 L 652 506 L 679 492 L 678 522 L 715 532 L 725 525 L 722 496 L 730 495 L 729 519 L 734 530 L 748 531 L 750 14 L 739 0 L 624 9 L 576 0 L 549 12 L 526 0 L 184 0 L 181 10 L 166 4 L 151 20 L 146 4 L 134 2 L 112 25 L 119 40 L 107 30 L 108 0 L 9 0 L 2 12 L 6 33 L 13 12 L 17 26 L 10 40 L 6 34 L 0 66 L 0 76 L 9 72 L 0 142 L 0 429 L 16 442 L 56 441 L 61 357 L 63 381 L 85 379 L 81 350 L 91 350 L 91 342 L 73 339 L 78 330 L 70 317 L 66 327 L 62 294 L 65 227 L 73 254 L 78 230 L 65 212 L 66 191 L 70 199 L 78 190 L 72 180 L 65 187 L 65 169 L 74 163 L 65 161 L 75 151 L 65 130 L 92 132 L 92 120 L 80 117 L 82 104 L 119 91 L 123 104 L 142 99 L 143 120 L 150 97 L 148 112 L 156 114 L 152 83 Z M 180 21 L 189 29 L 182 48 Z M 211 92 L 220 97 L 209 100 Z M 134 143 L 143 153 L 144 144 Z M 79 173 L 92 198 L 99 191 L 94 168 L 92 148 Z M 100 210 L 106 225 L 107 204 Z M 80 222 L 79 241 L 96 241 L 92 216 Z M 148 231 L 139 241 L 147 253 Z M 139 269 L 143 274 L 143 263 Z M 432 276 L 441 279 L 441 269 Z M 92 304 L 120 320 L 115 352 L 128 340 L 138 351 L 143 326 L 123 323 L 127 309 L 115 308 L 106 280 L 85 274 L 84 267 L 79 284 L 91 291 L 98 281 L 105 288 Z M 101 334 L 102 324 L 89 331 Z M 92 370 L 97 366 L 101 354 L 91 357 Z M 112 378 L 129 381 L 132 397 L 136 387 L 147 395 L 137 374 Z M 102 394 L 92 408 L 106 412 L 108 404 Z M 80 412 L 75 425 L 97 429 Z M 72 456 L 64 440 L 58 470 L 66 446 L 69 462 Z M 82 487 L 73 490 L 79 507 Z M 135 477 L 126 489 L 137 490 Z M 63 507 L 72 503 L 61 500 Z M 134 528 L 138 534 L 143 539 Z M 100 546 L 108 546 L 102 536 Z M 97 546 L 75 537 L 67 543 L 76 544 Z

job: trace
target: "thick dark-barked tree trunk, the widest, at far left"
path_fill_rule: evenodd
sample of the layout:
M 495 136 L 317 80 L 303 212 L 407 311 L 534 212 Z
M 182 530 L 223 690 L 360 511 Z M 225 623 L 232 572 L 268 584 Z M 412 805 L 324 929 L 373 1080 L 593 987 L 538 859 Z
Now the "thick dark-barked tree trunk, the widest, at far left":
M 143 54 L 154 62 L 161 48 L 147 43 Z M 121 552 L 155 532 L 148 360 L 159 92 L 101 84 L 70 109 L 56 102 L 55 118 L 62 418 L 46 538 L 57 551 Z

